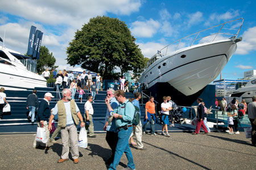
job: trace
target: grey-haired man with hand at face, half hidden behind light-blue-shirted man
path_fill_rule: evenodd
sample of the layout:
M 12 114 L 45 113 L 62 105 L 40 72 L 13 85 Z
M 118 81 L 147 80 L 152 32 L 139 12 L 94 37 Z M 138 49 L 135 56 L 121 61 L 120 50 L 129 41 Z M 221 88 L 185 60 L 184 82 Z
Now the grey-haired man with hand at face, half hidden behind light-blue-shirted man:
M 106 98 L 110 100 L 110 106 L 112 109 L 116 109 L 118 107 L 118 101 L 114 97 L 115 90 L 109 89 L 107 91 L 107 96 Z M 106 131 L 106 142 L 108 142 L 109 147 L 112 150 L 112 155 L 111 157 L 106 160 L 106 164 L 111 164 L 114 160 L 115 156 L 115 147 L 117 146 L 117 141 L 118 141 L 118 135 L 117 132 L 115 131 L 115 118 L 113 117 L 112 114 L 110 114 L 109 109 L 106 110 L 106 118 L 105 118 L 105 126 L 103 129 Z

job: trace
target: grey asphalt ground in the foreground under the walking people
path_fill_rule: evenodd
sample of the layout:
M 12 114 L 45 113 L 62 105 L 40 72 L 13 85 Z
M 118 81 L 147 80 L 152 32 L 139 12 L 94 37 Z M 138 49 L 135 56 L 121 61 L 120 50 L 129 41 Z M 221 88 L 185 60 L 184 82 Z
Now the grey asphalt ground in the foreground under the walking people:
M 170 132 L 171 137 L 143 135 L 146 150 L 131 147 L 136 169 L 255 169 L 256 147 L 244 132 L 229 135 L 210 132 L 192 135 Z M 69 159 L 58 164 L 61 139 L 51 150 L 32 147 L 35 134 L 0 135 L 0 169 L 107 169 L 106 159 L 111 154 L 105 134 L 88 138 L 88 148 L 79 148 L 80 162 Z M 71 154 L 69 154 L 71 158 Z M 126 167 L 123 155 L 117 169 Z

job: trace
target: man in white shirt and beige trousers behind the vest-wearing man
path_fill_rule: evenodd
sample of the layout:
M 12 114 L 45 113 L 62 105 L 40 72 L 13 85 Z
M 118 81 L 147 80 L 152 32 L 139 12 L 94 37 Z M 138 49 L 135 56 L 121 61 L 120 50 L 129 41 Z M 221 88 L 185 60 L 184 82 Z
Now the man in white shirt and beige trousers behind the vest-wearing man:
M 84 114 L 84 118 L 86 119 L 86 121 L 90 121 L 90 125 L 89 127 L 85 127 L 86 130 L 89 130 L 89 138 L 96 138 L 96 135 L 94 134 L 94 126 L 93 126 L 93 106 L 92 106 L 92 101 L 93 101 L 93 97 L 92 96 L 88 96 L 88 101 L 86 101 L 85 105 L 84 105 L 84 110 L 85 110 L 85 114 Z

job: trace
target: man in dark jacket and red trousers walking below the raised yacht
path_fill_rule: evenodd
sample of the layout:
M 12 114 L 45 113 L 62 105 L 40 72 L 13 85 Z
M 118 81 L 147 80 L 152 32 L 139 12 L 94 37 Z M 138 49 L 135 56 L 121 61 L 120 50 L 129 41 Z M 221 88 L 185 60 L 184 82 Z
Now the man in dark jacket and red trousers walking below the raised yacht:
M 197 98 L 197 124 L 196 124 L 196 131 L 192 132 L 193 135 L 197 135 L 200 132 L 200 128 L 202 127 L 203 130 L 205 131 L 204 134 L 208 134 L 208 130 L 204 125 L 204 105 L 201 103 L 203 102 L 203 99 Z

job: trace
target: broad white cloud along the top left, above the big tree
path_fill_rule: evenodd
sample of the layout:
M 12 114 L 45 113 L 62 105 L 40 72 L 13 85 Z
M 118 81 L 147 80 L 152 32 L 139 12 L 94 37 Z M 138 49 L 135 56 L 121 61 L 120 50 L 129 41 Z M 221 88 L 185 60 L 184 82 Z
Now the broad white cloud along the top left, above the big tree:
M 108 12 L 129 15 L 140 7 L 140 0 L 18 0 L 1 2 L 0 10 L 40 23 L 67 24 L 80 28 L 93 16 L 105 15 Z

